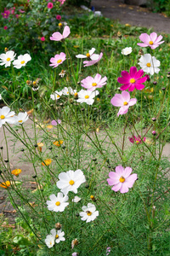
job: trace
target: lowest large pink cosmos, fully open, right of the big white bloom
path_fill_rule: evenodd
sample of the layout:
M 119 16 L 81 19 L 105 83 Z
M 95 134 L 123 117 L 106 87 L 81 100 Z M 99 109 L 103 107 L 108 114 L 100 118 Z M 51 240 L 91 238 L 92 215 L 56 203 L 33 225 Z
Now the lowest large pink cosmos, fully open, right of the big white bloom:
M 116 166 L 116 172 L 110 172 L 109 177 L 107 178 L 107 182 L 110 186 L 113 185 L 111 188 L 115 192 L 120 190 L 120 192 L 127 193 L 128 188 L 133 187 L 133 183 L 135 180 L 137 180 L 137 174 L 133 173 L 132 175 L 131 172 L 133 171 L 132 168 L 126 167 L 125 169 L 122 166 Z

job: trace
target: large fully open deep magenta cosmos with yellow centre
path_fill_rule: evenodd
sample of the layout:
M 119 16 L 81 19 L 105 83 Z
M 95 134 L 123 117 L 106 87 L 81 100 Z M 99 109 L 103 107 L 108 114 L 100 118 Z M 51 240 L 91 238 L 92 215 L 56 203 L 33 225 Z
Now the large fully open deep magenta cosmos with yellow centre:
M 147 78 L 141 78 L 144 74 L 144 71 L 142 69 L 139 69 L 137 71 L 136 67 L 130 67 L 130 73 L 127 73 L 127 71 L 122 71 L 122 78 L 118 78 L 117 82 L 120 84 L 123 84 L 120 88 L 120 90 L 127 90 L 133 91 L 135 88 L 137 90 L 144 89 L 144 83 Z

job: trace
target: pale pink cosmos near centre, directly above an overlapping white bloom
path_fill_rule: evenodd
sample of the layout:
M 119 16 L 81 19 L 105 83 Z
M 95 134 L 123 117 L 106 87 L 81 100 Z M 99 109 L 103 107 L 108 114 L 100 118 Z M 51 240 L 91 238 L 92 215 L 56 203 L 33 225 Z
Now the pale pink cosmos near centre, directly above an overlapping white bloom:
M 82 87 L 93 91 L 93 90 L 96 90 L 96 88 L 103 87 L 106 84 L 106 80 L 107 80 L 106 77 L 102 79 L 101 75 L 97 73 L 94 78 L 87 77 L 86 79 L 82 79 L 81 85 Z

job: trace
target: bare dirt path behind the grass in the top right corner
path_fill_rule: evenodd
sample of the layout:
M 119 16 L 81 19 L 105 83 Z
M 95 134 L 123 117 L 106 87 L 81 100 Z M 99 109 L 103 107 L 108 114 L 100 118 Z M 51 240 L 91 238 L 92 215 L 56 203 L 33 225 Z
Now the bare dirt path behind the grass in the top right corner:
M 170 33 L 170 18 L 166 15 L 151 13 L 149 9 L 127 5 L 123 0 L 92 0 L 95 11 L 111 20 L 119 20 L 123 24 L 153 28 L 154 32 Z

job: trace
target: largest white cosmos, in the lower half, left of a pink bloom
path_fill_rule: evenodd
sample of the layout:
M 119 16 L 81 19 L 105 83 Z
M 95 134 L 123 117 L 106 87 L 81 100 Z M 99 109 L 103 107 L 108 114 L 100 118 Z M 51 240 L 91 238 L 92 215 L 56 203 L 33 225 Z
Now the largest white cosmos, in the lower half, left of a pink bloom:
M 67 195 L 69 191 L 77 194 L 77 189 L 82 183 L 85 182 L 86 177 L 84 176 L 83 172 L 78 169 L 75 172 L 70 170 L 68 172 L 59 173 L 59 181 L 56 185 L 65 195 Z

